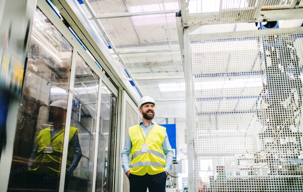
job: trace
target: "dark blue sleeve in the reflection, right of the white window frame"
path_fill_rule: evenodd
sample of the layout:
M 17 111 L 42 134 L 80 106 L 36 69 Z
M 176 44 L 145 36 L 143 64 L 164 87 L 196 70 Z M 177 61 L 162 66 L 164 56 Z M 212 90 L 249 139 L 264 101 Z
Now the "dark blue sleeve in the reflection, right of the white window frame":
M 81 151 L 81 146 L 78 138 L 78 133 L 75 132 L 74 136 L 72 137 L 71 140 L 73 151 L 75 154 L 75 157 L 72 161 L 71 166 L 67 169 L 67 174 L 71 174 L 75 169 L 77 168 L 80 159 L 82 158 L 82 151 Z

